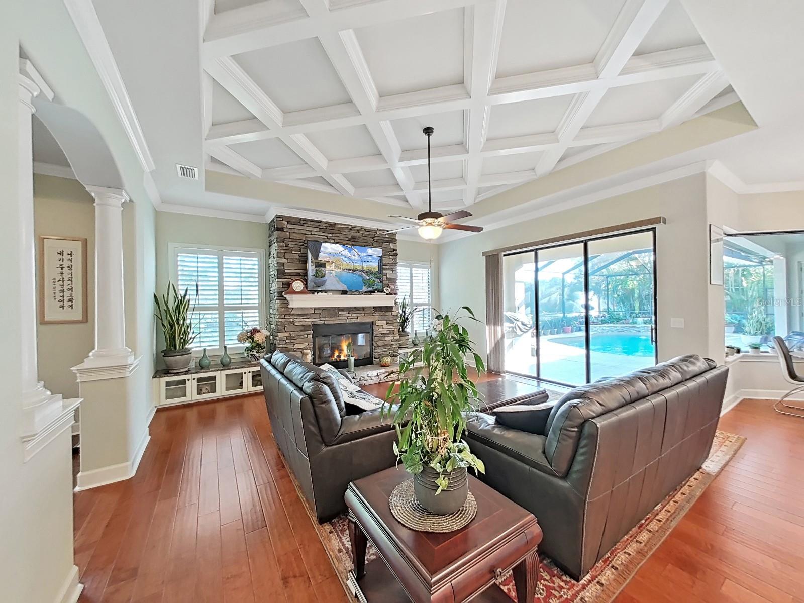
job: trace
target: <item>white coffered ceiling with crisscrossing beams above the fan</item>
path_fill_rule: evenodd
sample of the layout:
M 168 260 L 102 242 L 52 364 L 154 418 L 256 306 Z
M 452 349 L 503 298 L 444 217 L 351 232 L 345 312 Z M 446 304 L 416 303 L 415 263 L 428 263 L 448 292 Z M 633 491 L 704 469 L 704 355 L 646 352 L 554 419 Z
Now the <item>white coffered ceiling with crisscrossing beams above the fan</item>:
M 211 166 L 463 207 L 690 119 L 728 90 L 679 0 L 217 0 Z

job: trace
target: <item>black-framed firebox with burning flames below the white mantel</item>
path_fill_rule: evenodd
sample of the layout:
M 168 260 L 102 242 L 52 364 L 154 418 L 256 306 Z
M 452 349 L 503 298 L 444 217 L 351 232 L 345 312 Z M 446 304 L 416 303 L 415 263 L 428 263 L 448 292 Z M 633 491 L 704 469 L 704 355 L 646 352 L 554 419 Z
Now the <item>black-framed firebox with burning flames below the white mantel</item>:
M 355 356 L 355 367 L 374 363 L 374 325 L 371 322 L 313 325 L 313 363 L 346 368 L 349 343 Z

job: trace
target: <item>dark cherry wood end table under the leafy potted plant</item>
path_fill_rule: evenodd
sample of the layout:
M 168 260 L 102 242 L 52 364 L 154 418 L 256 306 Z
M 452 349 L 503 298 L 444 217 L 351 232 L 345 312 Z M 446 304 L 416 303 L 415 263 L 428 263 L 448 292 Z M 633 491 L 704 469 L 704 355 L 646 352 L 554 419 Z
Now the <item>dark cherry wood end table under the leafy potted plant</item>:
M 363 603 L 511 603 L 495 578 L 513 568 L 519 603 L 532 603 L 539 579 L 536 518 L 470 475 L 478 515 L 460 530 L 436 534 L 404 527 L 388 497 L 411 476 L 403 468 L 351 482 L 346 493 L 354 569 L 349 580 Z M 380 559 L 366 564 L 367 538 Z

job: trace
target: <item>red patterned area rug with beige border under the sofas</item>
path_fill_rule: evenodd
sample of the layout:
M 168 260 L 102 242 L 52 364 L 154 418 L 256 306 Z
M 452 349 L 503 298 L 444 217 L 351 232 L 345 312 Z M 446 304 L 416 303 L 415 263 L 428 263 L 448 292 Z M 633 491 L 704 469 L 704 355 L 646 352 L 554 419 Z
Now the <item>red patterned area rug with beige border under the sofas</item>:
M 556 568 L 548 557 L 541 556 L 541 572 L 534 603 L 565 603 L 568 601 L 609 603 L 609 601 L 613 601 L 638 568 L 656 550 L 658 545 L 662 544 L 662 540 L 689 511 L 695 500 L 704 493 L 706 487 L 716 478 L 720 470 L 734 457 L 743 442 L 745 442 L 745 437 L 721 431 L 716 432 L 712 450 L 704 462 L 704 466 L 683 486 L 665 498 L 653 511 L 650 511 L 650 514 L 626 534 L 603 559 L 598 561 L 580 582 L 572 580 L 559 568 Z M 352 567 L 347 515 L 340 515 L 329 523 L 321 525 L 313 519 L 313 523 L 343 588 L 351 596 L 351 589 L 347 585 L 347 576 Z M 374 560 L 376 556 L 377 553 L 369 542 L 366 561 Z M 502 576 L 498 584 L 508 597 L 511 597 L 512 601 L 516 601 L 511 572 Z

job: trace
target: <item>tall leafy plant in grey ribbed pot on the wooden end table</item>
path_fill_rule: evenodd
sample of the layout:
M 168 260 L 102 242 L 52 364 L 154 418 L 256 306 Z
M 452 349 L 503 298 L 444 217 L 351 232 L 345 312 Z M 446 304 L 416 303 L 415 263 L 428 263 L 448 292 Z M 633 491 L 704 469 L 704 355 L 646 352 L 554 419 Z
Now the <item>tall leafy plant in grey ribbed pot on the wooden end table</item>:
M 476 320 L 470 308 L 461 310 L 468 313 L 463 318 Z M 384 413 L 392 414 L 397 437 L 394 453 L 413 474 L 416 500 L 438 515 L 454 513 L 466 503 L 467 468 L 486 472 L 462 438 L 466 413 L 477 409 L 480 402 L 466 356 L 474 358 L 478 372 L 485 367 L 460 319 L 459 315 L 436 316 L 433 337 L 421 350 L 402 359 L 399 389 L 395 391 L 396 384 L 388 388 L 383 407 Z M 423 367 L 414 369 L 416 363 Z

